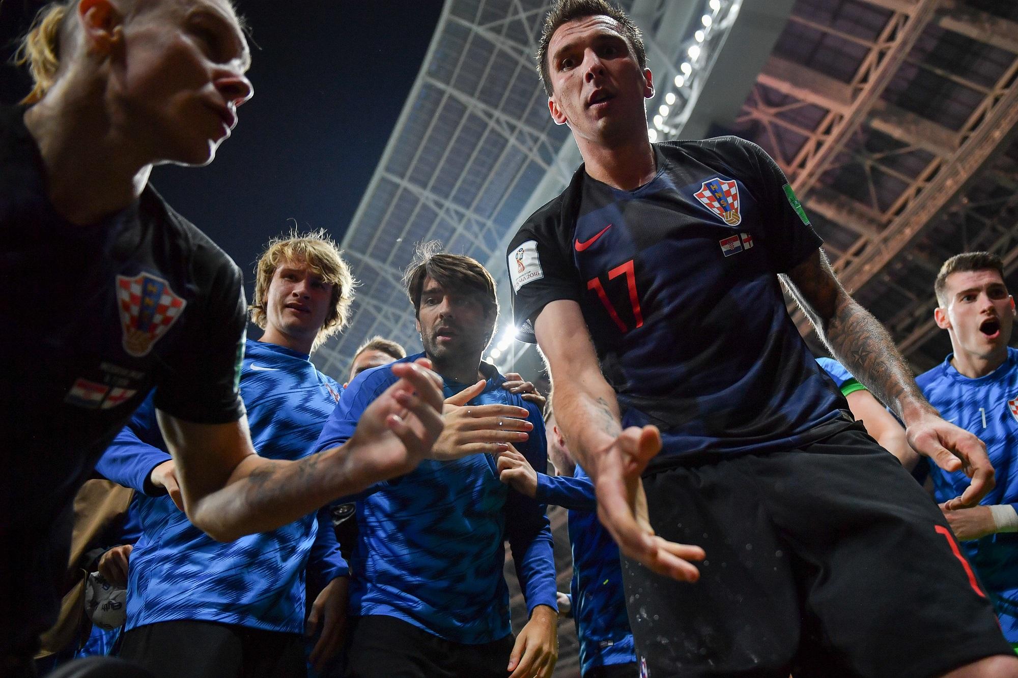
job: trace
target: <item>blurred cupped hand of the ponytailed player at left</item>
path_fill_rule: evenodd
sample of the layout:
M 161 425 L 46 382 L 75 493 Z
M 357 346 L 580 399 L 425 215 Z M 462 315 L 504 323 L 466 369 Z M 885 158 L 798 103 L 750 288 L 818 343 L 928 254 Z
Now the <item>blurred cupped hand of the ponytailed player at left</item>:
M 375 399 L 344 447 L 347 472 L 367 487 L 417 467 L 442 434 L 442 379 L 431 360 L 397 362 L 399 378 Z

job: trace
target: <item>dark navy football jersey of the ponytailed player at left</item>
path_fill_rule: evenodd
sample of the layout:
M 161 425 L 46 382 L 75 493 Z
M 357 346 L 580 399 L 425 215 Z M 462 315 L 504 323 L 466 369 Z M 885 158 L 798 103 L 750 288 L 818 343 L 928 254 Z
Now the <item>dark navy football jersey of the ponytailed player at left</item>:
M 189 421 L 243 415 L 247 321 L 236 265 L 151 187 L 100 223 L 65 221 L 23 113 L 0 108 L 0 551 L 19 554 L 0 574 L 16 568 L 3 617 L 31 637 L 55 618 L 70 502 L 149 392 Z

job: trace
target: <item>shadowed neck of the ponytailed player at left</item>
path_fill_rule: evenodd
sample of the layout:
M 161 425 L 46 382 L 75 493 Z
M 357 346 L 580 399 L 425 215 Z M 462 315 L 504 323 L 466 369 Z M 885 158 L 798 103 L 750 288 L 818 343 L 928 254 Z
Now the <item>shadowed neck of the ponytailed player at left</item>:
M 145 190 L 152 165 L 135 159 L 101 105 L 51 93 L 25 111 L 24 125 L 39 147 L 50 202 L 72 224 L 98 223 Z

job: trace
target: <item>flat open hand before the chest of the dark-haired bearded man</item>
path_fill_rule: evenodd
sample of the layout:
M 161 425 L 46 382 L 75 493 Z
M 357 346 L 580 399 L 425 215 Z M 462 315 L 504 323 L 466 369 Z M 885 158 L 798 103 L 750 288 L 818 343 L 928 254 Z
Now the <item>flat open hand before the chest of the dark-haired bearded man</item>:
M 445 429 L 432 452 L 432 459 L 451 461 L 470 454 L 496 454 L 509 449 L 510 443 L 522 443 L 533 425 L 526 420 L 530 412 L 514 405 L 467 405 L 485 390 L 479 381 L 447 398 L 442 410 Z

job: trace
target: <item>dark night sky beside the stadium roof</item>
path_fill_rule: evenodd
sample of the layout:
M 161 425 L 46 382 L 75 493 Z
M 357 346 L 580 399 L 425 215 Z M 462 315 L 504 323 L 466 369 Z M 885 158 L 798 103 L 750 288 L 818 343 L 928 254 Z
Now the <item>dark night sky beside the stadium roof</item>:
M 0 102 L 29 92 L 7 64 L 44 3 L 0 0 Z M 293 223 L 338 241 L 353 218 L 417 75 L 441 0 L 240 0 L 254 98 L 203 168 L 158 167 L 152 183 L 244 272 L 248 299 L 262 245 Z M 356 272 L 354 272 L 356 275 Z M 257 335 L 256 335 L 257 336 Z

